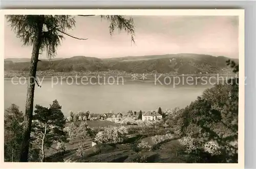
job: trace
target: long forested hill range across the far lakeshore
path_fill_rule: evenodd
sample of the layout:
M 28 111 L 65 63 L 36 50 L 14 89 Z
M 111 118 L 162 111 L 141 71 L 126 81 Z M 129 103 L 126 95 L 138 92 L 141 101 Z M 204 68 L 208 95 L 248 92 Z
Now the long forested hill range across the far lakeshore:
M 224 56 L 210 56 L 199 54 L 168 54 L 152 56 L 130 56 L 122 58 L 99 59 L 94 57 L 74 56 L 66 59 L 41 60 L 37 70 L 54 70 L 57 72 L 70 71 L 108 71 L 119 70 L 127 73 L 170 73 L 198 74 L 222 73 L 229 68 L 226 61 L 230 58 Z M 15 59 L 14 59 L 15 60 Z M 21 59 L 22 60 L 22 59 Z M 230 59 L 238 63 L 238 59 Z M 17 59 L 5 59 L 5 70 L 29 69 L 30 62 Z

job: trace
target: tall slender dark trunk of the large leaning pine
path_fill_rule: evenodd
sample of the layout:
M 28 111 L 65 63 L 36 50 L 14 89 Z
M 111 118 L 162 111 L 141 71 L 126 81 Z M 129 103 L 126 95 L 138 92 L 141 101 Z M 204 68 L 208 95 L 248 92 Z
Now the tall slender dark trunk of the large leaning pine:
M 31 132 L 31 124 L 33 117 L 33 102 L 34 102 L 34 90 L 35 90 L 35 76 L 36 76 L 36 67 L 38 62 L 38 55 L 41 46 L 42 39 L 42 26 L 44 25 L 44 15 L 38 16 L 37 21 L 37 32 L 36 38 L 33 45 L 33 52 L 30 62 L 30 70 L 29 70 L 29 82 L 27 88 L 27 100 L 25 107 L 25 116 L 24 116 L 24 133 L 23 133 L 23 142 L 20 153 L 20 162 L 28 162 L 28 154 L 29 154 L 29 145 L 30 145 L 30 132 Z

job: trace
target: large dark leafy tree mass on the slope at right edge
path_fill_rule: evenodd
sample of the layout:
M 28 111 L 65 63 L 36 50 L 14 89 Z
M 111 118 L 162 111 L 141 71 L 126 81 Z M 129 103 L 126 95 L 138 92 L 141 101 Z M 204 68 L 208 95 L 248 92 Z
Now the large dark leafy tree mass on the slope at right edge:
M 231 67 L 238 73 L 238 65 Z M 198 144 L 189 152 L 188 162 L 238 162 L 238 82 L 239 78 L 231 78 L 206 89 L 179 116 L 177 133 L 191 138 L 186 145 Z

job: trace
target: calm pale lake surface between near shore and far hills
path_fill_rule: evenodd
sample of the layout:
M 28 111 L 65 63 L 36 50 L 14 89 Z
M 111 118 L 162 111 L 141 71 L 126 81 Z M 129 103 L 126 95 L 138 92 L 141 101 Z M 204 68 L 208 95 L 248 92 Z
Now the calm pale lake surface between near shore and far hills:
M 17 83 L 16 81 L 15 83 Z M 23 82 L 22 82 L 23 83 Z M 203 90 L 211 85 L 155 85 L 154 82 L 125 81 L 113 85 L 78 85 L 63 81 L 52 85 L 51 80 L 44 79 L 41 88 L 35 87 L 34 105 L 49 107 L 53 100 L 62 106 L 62 112 L 69 115 L 69 111 L 79 110 L 93 113 L 126 113 L 129 110 L 147 111 L 180 107 L 183 108 L 197 99 Z M 14 85 L 10 79 L 4 82 L 5 109 L 12 103 L 25 110 L 27 84 Z

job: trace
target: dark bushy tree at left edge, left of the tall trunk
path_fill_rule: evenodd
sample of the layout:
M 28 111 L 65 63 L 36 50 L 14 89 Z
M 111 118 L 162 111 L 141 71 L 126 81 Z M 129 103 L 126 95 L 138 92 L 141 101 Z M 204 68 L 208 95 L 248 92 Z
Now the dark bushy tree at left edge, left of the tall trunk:
M 4 117 L 4 154 L 5 161 L 18 161 L 20 143 L 22 143 L 23 112 L 12 104 L 5 110 Z

